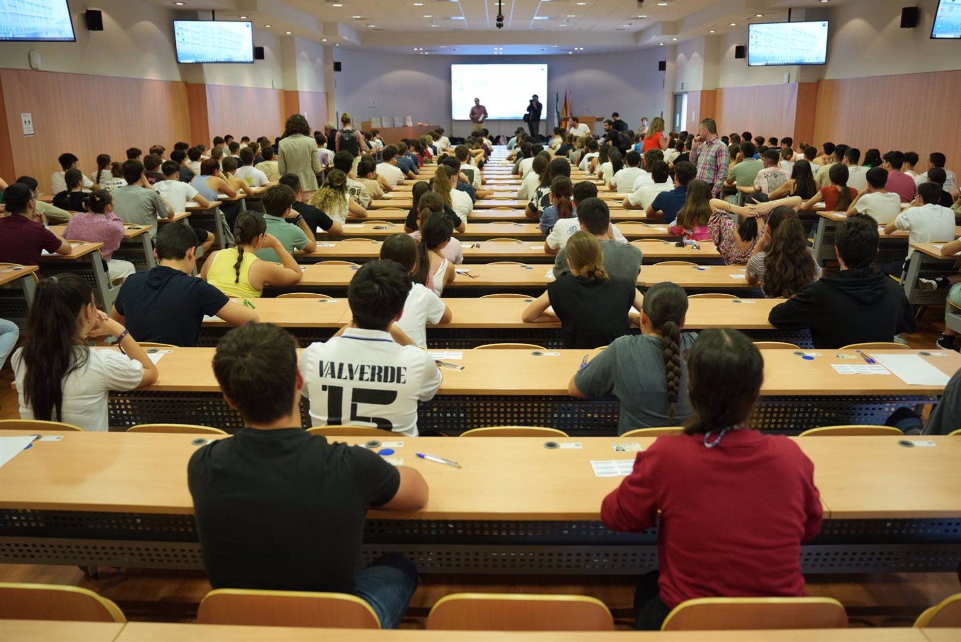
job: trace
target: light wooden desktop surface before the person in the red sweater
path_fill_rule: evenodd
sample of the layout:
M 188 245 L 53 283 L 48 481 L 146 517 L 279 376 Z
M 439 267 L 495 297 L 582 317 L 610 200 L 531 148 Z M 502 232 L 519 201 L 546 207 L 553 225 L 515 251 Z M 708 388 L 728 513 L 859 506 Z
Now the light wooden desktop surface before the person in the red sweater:
M 22 435 L 0 431 L 0 436 Z M 0 468 L 0 507 L 187 514 L 193 505 L 186 462 L 197 447 L 191 434 L 61 432 L 37 441 Z M 229 437 L 226 437 L 229 438 Z M 665 437 L 660 437 L 665 438 Z M 666 438 L 684 438 L 669 436 Z M 594 475 L 592 459 L 628 459 L 616 443 L 649 448 L 653 437 L 553 439 L 581 448 L 547 449 L 542 437 L 477 439 L 404 437 L 404 464 L 431 486 L 416 512 L 371 511 L 382 519 L 597 520 L 604 496 L 621 478 Z M 933 448 L 904 448 L 897 437 L 793 437 L 811 457 L 825 516 L 908 518 L 961 515 L 961 439 L 930 437 Z M 337 439 L 362 444 L 366 437 Z M 429 453 L 453 468 L 415 457 Z M 867 455 L 865 455 L 867 454 Z M 852 467 L 858 474 L 852 474 Z M 891 474 L 897 471 L 897 475 Z M 561 474 L 562 472 L 562 474 Z M 856 479 L 855 479 L 856 478 Z M 863 479 L 869 478 L 869 479 Z M 150 483 L 144 483 L 149 480 Z M 924 493 L 918 492 L 924 488 Z M 926 495 L 924 499 L 919 495 Z M 921 501 L 919 501 L 921 500 Z

